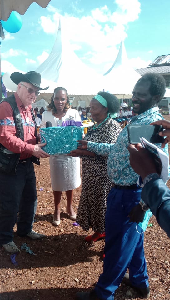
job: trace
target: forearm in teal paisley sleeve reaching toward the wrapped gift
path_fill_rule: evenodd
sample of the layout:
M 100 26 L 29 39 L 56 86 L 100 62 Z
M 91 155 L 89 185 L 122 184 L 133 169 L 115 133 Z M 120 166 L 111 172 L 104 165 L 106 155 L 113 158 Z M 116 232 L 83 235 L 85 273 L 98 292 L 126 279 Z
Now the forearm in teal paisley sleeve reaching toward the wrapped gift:
M 103 156 L 109 156 L 114 144 L 88 142 L 88 150 Z

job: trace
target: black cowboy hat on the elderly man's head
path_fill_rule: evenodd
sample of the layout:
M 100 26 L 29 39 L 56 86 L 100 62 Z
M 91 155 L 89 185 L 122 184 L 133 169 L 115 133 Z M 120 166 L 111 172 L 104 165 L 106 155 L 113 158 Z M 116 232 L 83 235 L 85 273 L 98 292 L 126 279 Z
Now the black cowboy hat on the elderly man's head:
M 49 87 L 46 88 L 40 88 L 41 84 L 41 75 L 40 73 L 37 73 L 35 71 L 27 72 L 26 74 L 22 74 L 20 72 L 14 72 L 11 74 L 11 80 L 15 84 L 19 84 L 21 81 L 29 82 L 35 87 L 37 87 L 39 90 L 47 90 Z

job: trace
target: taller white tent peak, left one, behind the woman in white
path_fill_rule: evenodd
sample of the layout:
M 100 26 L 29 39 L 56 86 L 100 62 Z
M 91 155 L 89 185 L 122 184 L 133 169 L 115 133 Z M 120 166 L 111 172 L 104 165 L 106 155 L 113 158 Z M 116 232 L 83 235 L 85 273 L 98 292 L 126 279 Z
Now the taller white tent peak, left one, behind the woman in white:
M 69 94 L 93 95 L 104 88 L 103 75 L 86 66 L 64 39 L 60 21 L 53 49 L 36 71 L 42 76 L 42 85 L 50 86 L 47 92 L 62 86 Z

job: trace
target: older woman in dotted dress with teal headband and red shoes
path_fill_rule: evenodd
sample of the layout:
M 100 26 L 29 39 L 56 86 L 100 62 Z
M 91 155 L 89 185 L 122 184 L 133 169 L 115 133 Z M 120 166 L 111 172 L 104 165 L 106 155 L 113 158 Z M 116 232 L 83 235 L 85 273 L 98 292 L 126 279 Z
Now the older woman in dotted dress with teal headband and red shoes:
M 97 124 L 88 128 L 84 139 L 97 143 L 115 143 L 121 127 L 113 120 L 119 110 L 118 99 L 107 92 L 99 92 L 90 101 L 90 113 Z M 111 118 L 112 117 L 112 118 Z M 93 235 L 87 236 L 87 242 L 105 237 L 105 213 L 111 181 L 107 173 L 108 157 L 76 149 L 71 156 L 82 156 L 82 191 L 78 206 L 76 222 L 83 230 L 91 227 Z

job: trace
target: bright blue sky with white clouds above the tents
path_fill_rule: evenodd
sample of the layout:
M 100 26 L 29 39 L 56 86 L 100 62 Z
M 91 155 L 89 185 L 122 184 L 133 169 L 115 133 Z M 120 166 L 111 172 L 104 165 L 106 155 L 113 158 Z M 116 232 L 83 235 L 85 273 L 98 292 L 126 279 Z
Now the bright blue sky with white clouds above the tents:
M 19 32 L 4 30 L 2 72 L 36 69 L 52 50 L 59 15 L 70 48 L 98 73 L 112 66 L 122 36 L 133 68 L 147 67 L 170 53 L 169 8 L 169 0 L 51 0 L 47 8 L 32 3 Z

